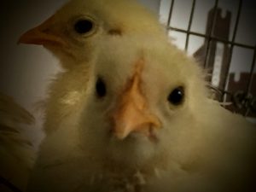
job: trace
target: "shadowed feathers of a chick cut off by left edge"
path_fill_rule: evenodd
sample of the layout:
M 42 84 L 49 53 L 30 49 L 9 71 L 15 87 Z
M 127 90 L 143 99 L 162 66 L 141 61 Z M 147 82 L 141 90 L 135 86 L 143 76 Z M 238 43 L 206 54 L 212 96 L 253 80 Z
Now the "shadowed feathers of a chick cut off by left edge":
M 32 114 L 11 97 L 0 93 L 0 190 L 3 192 L 26 189 L 35 150 L 21 132 L 33 122 Z

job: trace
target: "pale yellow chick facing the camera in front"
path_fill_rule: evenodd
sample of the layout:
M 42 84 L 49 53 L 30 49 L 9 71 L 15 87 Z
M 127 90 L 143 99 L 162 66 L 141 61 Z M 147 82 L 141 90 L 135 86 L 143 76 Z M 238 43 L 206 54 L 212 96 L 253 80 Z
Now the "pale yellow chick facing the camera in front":
M 140 36 L 96 55 L 50 86 L 29 192 L 254 191 L 255 127 L 209 98 L 193 59 Z

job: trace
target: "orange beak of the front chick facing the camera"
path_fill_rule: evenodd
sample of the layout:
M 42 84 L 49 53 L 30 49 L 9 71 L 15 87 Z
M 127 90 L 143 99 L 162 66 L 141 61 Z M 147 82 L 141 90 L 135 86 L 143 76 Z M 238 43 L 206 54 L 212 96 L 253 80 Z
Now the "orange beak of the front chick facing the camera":
M 138 61 L 136 72 L 126 84 L 113 113 L 113 132 L 120 140 L 131 132 L 140 132 L 152 137 L 153 129 L 160 128 L 160 120 L 148 109 L 148 102 L 140 89 L 143 61 Z

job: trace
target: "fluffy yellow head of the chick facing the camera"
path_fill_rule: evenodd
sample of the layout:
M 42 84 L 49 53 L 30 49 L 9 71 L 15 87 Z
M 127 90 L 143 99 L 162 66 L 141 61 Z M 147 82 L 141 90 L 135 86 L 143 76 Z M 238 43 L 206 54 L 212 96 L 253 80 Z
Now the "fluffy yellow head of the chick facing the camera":
M 84 146 L 128 166 L 196 154 L 195 111 L 207 102 L 207 90 L 194 61 L 144 37 L 109 38 L 99 55 L 79 119 Z

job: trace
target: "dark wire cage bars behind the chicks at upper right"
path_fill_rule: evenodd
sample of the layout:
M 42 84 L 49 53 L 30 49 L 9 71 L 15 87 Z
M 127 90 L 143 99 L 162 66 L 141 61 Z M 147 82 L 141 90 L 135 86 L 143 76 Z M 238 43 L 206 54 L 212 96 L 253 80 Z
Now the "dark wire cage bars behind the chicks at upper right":
M 192 22 L 194 19 L 194 13 L 195 13 L 195 6 L 196 3 L 198 3 L 196 0 L 192 1 L 191 9 L 190 9 L 190 14 L 189 14 L 189 25 L 187 29 L 179 28 L 179 27 L 174 27 L 172 26 L 172 15 L 173 15 L 173 9 L 175 5 L 175 0 L 172 0 L 172 3 L 170 5 L 169 9 L 169 15 L 168 15 L 168 20 L 166 22 L 166 31 L 170 32 L 182 32 L 183 34 L 186 35 L 185 38 L 185 47 L 184 50 L 188 51 L 189 47 L 189 36 L 193 35 L 195 37 L 201 37 L 205 39 L 205 55 L 202 61 L 202 66 L 207 68 L 208 67 L 208 62 L 210 60 L 211 55 L 211 44 L 212 42 L 219 42 L 222 44 L 226 44 L 228 46 L 228 54 L 226 55 L 227 58 L 227 64 L 226 64 L 226 69 L 224 70 L 224 76 L 223 81 L 224 81 L 224 86 L 223 87 L 213 87 L 213 90 L 217 90 L 217 94 L 220 96 L 217 97 L 219 102 L 231 102 L 231 106 L 228 106 L 226 108 L 230 109 L 231 111 L 235 113 L 241 113 L 244 116 L 248 116 L 250 114 L 251 117 L 256 117 L 256 97 L 253 96 L 251 93 L 251 90 L 253 87 L 256 86 L 256 84 L 253 84 L 253 73 L 255 70 L 255 61 L 256 61 L 256 44 L 250 45 L 250 44 L 241 44 L 236 42 L 236 35 L 237 35 L 237 30 L 238 26 L 241 22 L 241 9 L 243 9 L 243 0 L 238 1 L 237 5 L 237 10 L 236 10 L 236 19 L 235 19 L 235 26 L 234 26 L 234 31 L 232 32 L 231 39 L 226 39 L 222 37 L 218 37 L 213 34 L 213 28 L 218 22 L 217 20 L 217 14 L 218 14 L 218 5 L 219 1 L 215 0 L 214 1 L 214 6 L 212 8 L 213 11 L 213 18 L 210 21 L 209 25 L 207 26 L 207 32 L 201 33 L 201 32 L 194 32 L 191 30 Z M 230 92 L 230 90 L 227 90 L 227 85 L 229 84 L 229 72 L 230 72 L 230 65 L 231 65 L 231 60 L 232 56 L 234 55 L 234 48 L 235 47 L 241 47 L 244 49 L 250 49 L 253 50 L 253 61 L 251 63 L 250 67 L 250 72 L 249 72 L 249 78 L 247 81 L 247 87 L 244 90 L 236 90 Z

